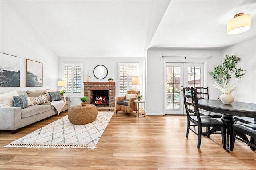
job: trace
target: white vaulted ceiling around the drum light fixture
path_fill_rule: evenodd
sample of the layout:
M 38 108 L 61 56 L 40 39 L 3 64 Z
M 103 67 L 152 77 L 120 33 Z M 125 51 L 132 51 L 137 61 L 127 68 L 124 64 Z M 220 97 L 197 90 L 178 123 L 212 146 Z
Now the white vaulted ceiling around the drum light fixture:
M 148 48 L 221 49 L 256 36 L 255 0 L 14 1 L 58 56 L 144 57 Z M 235 14 L 247 32 L 228 35 Z

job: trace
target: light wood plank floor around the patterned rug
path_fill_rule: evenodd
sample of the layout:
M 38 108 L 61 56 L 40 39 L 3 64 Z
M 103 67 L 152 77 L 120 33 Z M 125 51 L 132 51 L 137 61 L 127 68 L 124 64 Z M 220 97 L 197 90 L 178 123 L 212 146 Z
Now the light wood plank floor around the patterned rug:
M 52 121 L 67 115 L 60 113 L 22 128 L 18 133 L 1 131 L 1 169 L 213 169 L 255 170 L 256 152 L 236 141 L 234 151 L 222 149 L 220 135 L 186 138 L 185 116 L 127 117 L 114 113 L 96 149 L 4 148 Z

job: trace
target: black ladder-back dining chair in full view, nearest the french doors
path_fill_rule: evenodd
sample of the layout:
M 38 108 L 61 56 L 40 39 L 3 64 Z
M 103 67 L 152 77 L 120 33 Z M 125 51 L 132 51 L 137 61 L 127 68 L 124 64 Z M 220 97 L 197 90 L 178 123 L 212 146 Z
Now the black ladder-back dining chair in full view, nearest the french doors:
M 222 146 L 226 149 L 226 125 L 222 121 L 219 121 L 213 117 L 207 115 L 201 115 L 198 108 L 198 98 L 197 95 L 192 97 L 192 93 L 197 94 L 197 89 L 192 89 L 189 87 L 183 88 L 183 98 L 184 105 L 186 108 L 187 114 L 187 132 L 186 137 L 188 137 L 189 131 L 191 130 L 198 135 L 197 148 L 201 146 L 202 135 L 210 137 L 210 134 L 221 134 L 222 137 Z M 196 128 L 191 127 L 197 126 Z M 207 132 L 202 132 L 202 127 L 206 127 L 209 130 Z M 212 129 L 210 130 L 210 127 Z M 213 130 L 215 129 L 215 130 Z M 220 129 L 221 132 L 216 132 L 216 129 Z

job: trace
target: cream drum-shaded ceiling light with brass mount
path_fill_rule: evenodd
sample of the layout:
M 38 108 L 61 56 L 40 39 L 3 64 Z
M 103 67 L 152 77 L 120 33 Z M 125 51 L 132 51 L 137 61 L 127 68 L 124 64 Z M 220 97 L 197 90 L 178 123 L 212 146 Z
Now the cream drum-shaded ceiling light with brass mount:
M 227 34 L 239 34 L 246 32 L 251 28 L 252 16 L 249 14 L 239 13 L 234 16 L 227 24 Z

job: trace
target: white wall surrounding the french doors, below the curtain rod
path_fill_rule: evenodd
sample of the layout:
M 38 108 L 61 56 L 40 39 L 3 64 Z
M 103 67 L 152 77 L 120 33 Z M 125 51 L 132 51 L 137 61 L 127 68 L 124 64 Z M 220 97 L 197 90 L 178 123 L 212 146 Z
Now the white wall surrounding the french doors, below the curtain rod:
M 212 58 L 164 58 L 162 56 L 212 56 Z M 213 71 L 213 67 L 220 64 L 221 50 L 196 50 L 196 49 L 148 49 L 147 81 L 146 81 L 146 113 L 147 115 L 164 115 L 164 61 L 191 62 L 206 61 L 206 73 Z M 217 99 L 222 93 L 214 88 L 212 76 L 206 77 L 206 86 L 209 87 L 210 99 Z

